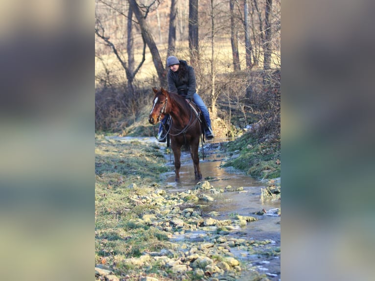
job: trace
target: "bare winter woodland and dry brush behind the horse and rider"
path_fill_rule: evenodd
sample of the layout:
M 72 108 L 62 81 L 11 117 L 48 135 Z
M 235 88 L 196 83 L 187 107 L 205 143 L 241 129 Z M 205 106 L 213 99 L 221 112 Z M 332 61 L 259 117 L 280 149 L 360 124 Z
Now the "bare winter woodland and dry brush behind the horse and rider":
M 167 89 L 175 55 L 216 136 L 280 141 L 280 43 L 280 0 L 95 0 L 95 131 L 151 135 L 151 88 Z

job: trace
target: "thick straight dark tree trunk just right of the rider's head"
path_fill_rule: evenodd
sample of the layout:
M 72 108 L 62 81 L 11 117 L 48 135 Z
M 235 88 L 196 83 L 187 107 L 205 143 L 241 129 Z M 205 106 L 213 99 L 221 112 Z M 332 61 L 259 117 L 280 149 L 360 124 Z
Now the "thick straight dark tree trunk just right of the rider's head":
M 198 0 L 189 0 L 189 50 L 190 64 L 195 66 L 199 61 Z

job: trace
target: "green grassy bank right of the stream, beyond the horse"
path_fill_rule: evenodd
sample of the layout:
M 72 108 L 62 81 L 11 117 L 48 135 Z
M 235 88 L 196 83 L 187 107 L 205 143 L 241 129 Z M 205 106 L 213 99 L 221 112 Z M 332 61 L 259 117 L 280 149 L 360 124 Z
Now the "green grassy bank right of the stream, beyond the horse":
M 280 177 L 280 141 L 259 142 L 252 133 L 245 133 L 226 143 L 225 147 L 232 154 L 232 159 L 224 166 L 233 166 L 257 179 Z

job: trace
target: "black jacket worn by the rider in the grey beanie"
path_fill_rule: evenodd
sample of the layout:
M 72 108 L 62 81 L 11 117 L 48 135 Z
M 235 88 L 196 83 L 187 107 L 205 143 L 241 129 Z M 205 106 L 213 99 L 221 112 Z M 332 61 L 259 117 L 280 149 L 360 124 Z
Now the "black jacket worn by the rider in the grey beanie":
M 181 66 L 186 68 L 186 73 L 183 77 L 179 77 Z M 168 91 L 174 94 L 180 94 L 185 98 L 191 100 L 193 94 L 196 93 L 196 80 L 194 69 L 187 64 L 186 61 L 180 60 L 180 69 L 176 72 L 169 70 L 168 80 Z

